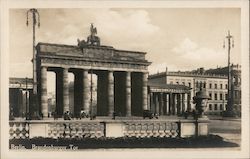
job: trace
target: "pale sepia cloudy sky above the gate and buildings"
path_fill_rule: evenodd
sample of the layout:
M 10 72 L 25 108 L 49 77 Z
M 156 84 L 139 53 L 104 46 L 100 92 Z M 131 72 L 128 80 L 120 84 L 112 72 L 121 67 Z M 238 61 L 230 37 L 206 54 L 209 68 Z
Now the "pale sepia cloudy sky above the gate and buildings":
M 32 26 L 28 9 L 9 12 L 10 77 L 32 77 Z M 147 52 L 149 73 L 188 71 L 227 65 L 223 40 L 234 36 L 231 62 L 240 64 L 240 9 L 237 8 L 83 8 L 39 9 L 36 43 L 77 45 L 87 38 L 90 23 L 101 44 Z M 31 15 L 29 15 L 31 20 Z M 32 22 L 30 21 L 30 24 Z M 226 44 L 227 47 L 227 44 Z

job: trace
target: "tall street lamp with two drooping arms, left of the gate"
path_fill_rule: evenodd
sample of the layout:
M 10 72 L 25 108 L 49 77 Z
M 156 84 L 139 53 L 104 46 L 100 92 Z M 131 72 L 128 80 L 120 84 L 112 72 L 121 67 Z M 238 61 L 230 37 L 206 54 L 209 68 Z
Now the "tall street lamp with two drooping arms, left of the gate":
M 27 21 L 26 25 L 29 25 L 29 13 L 32 16 L 32 26 L 33 26 L 33 58 L 32 58 L 32 63 L 33 63 L 33 106 L 37 107 L 38 106 L 38 97 L 37 97 L 37 65 L 36 65 L 36 25 L 38 28 L 40 27 L 40 15 L 37 9 L 32 8 L 27 11 Z M 39 112 L 39 111 L 38 111 Z

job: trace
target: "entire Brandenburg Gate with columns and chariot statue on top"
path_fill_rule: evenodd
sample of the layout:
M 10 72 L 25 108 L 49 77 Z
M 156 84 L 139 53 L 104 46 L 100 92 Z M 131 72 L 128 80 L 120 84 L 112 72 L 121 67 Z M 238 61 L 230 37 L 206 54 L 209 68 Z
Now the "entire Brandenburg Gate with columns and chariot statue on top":
M 49 117 L 47 72 L 56 74 L 56 110 L 62 116 L 69 111 L 69 77 L 74 74 L 74 116 L 80 111 L 97 116 L 141 116 L 147 105 L 148 66 L 145 52 L 117 50 L 100 45 L 96 28 L 91 25 L 87 41 L 78 46 L 38 43 L 37 80 L 39 110 Z M 97 105 L 90 104 L 88 74 L 97 76 Z M 91 108 L 95 107 L 95 108 Z

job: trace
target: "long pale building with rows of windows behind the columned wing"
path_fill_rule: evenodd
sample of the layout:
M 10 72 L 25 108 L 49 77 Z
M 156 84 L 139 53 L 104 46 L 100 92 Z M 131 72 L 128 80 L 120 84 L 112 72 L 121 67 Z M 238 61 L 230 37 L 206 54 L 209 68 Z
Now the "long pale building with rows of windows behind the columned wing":
M 206 110 L 207 114 L 220 114 L 227 107 L 228 93 L 228 77 L 227 67 L 209 69 L 199 68 L 193 71 L 177 71 L 170 72 L 166 68 L 165 72 L 153 74 L 149 76 L 149 82 L 160 84 L 177 84 L 184 85 L 192 89 L 191 97 L 194 97 L 200 87 L 205 88 L 210 100 Z M 240 82 L 240 66 L 232 65 L 233 86 L 233 103 L 235 110 L 241 110 L 241 82 Z M 195 108 L 191 98 L 191 109 Z

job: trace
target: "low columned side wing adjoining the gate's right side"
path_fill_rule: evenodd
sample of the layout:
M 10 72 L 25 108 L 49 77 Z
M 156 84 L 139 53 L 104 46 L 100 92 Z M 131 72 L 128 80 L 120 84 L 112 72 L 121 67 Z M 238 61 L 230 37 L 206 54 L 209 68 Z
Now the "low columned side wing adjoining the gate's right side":
M 183 115 L 191 111 L 190 88 L 184 85 L 148 83 L 148 105 L 159 116 Z

